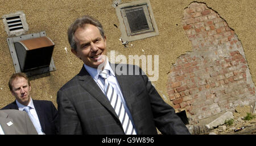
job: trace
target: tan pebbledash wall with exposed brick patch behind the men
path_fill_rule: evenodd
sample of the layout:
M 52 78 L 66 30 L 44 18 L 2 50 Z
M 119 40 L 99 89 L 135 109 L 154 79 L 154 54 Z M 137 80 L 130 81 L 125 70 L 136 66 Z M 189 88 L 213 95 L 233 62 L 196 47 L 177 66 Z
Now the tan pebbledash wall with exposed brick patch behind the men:
M 193 0 L 150 0 L 159 35 L 131 41 L 126 47 L 120 41 L 114 1 L 0 0 L 0 109 L 15 99 L 7 84 L 15 69 L 1 17 L 16 11 L 26 14 L 26 34 L 46 31 L 55 43 L 52 58 L 56 70 L 30 78 L 33 99 L 52 101 L 57 107 L 57 91 L 82 67 L 81 60 L 70 51 L 67 28 L 88 14 L 103 24 L 108 51 L 127 58 L 159 56 L 159 78 L 152 84 L 176 112 L 186 111 L 189 122 L 256 100 L 250 78 L 251 72 L 256 81 L 255 0 L 200 0 L 213 10 Z M 136 0 L 121 2 L 131 1 Z

